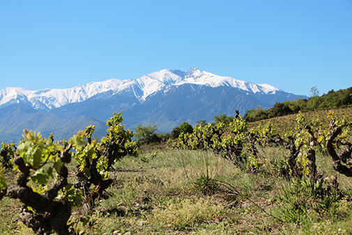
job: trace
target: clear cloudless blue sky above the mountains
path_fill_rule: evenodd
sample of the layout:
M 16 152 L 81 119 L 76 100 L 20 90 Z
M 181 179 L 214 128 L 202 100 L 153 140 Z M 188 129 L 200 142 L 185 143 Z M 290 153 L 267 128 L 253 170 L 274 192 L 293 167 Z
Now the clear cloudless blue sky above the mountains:
M 352 86 L 352 0 L 0 1 L 0 89 L 192 66 L 309 96 Z

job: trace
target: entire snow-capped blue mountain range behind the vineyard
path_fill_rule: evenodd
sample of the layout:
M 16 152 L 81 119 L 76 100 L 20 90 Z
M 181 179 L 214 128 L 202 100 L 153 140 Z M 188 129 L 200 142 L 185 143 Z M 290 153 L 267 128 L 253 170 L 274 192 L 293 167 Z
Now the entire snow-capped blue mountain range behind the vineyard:
M 215 115 L 234 116 L 235 109 L 272 107 L 277 102 L 307 98 L 268 84 L 253 84 L 190 68 L 160 70 L 138 79 L 108 79 L 70 89 L 0 90 L 0 142 L 18 142 L 24 128 L 69 138 L 89 124 L 105 135 L 105 121 L 123 110 L 126 128 L 157 124 L 170 132 L 183 121 L 213 121 Z

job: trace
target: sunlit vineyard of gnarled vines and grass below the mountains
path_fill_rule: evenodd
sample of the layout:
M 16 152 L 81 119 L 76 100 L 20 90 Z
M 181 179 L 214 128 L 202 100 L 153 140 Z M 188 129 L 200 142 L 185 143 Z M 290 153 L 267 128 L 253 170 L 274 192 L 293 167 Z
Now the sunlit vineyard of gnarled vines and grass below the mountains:
M 352 234 L 351 108 L 1 144 L 1 234 Z

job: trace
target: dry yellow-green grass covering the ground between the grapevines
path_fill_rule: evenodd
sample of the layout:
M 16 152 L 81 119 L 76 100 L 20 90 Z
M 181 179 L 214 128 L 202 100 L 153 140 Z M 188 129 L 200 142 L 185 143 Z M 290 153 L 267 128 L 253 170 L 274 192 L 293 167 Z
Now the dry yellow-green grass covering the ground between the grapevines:
M 259 149 L 261 171 L 252 174 L 210 151 L 145 146 L 138 158 L 116 162 L 109 198 L 98 200 L 89 223 L 77 229 L 81 234 L 352 234 L 351 179 L 317 153 L 318 172 L 337 176 L 345 196 L 323 201 L 305 182 L 280 176 L 288 155 L 282 147 Z M 15 179 L 12 172 L 6 176 Z M 1 234 L 33 234 L 17 220 L 20 207 L 13 199 L 0 201 Z M 72 221 L 79 216 L 75 211 Z

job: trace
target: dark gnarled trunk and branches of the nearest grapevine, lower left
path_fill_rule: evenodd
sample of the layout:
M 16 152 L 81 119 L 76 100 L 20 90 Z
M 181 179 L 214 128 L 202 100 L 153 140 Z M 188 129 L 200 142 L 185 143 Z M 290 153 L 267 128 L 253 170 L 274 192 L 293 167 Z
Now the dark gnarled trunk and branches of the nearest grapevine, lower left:
M 60 160 L 63 165 L 58 172 L 58 181 L 43 195 L 33 192 L 26 185 L 30 168 L 24 164 L 24 160 L 20 156 L 16 155 L 14 158 L 15 164 L 20 169 L 20 176 L 16 185 L 9 185 L 6 189 L 6 196 L 20 199 L 25 205 L 20 212 L 20 220 L 27 227 L 31 227 L 36 234 L 51 234 L 52 231 L 57 234 L 70 234 L 67 221 L 71 215 L 71 206 L 65 200 L 54 200 L 59 190 L 68 184 L 68 169 L 64 164 L 69 163 L 71 160 L 70 148 L 71 146 L 68 146 L 68 149 L 61 153 Z M 29 211 L 27 206 L 30 206 L 35 213 Z

